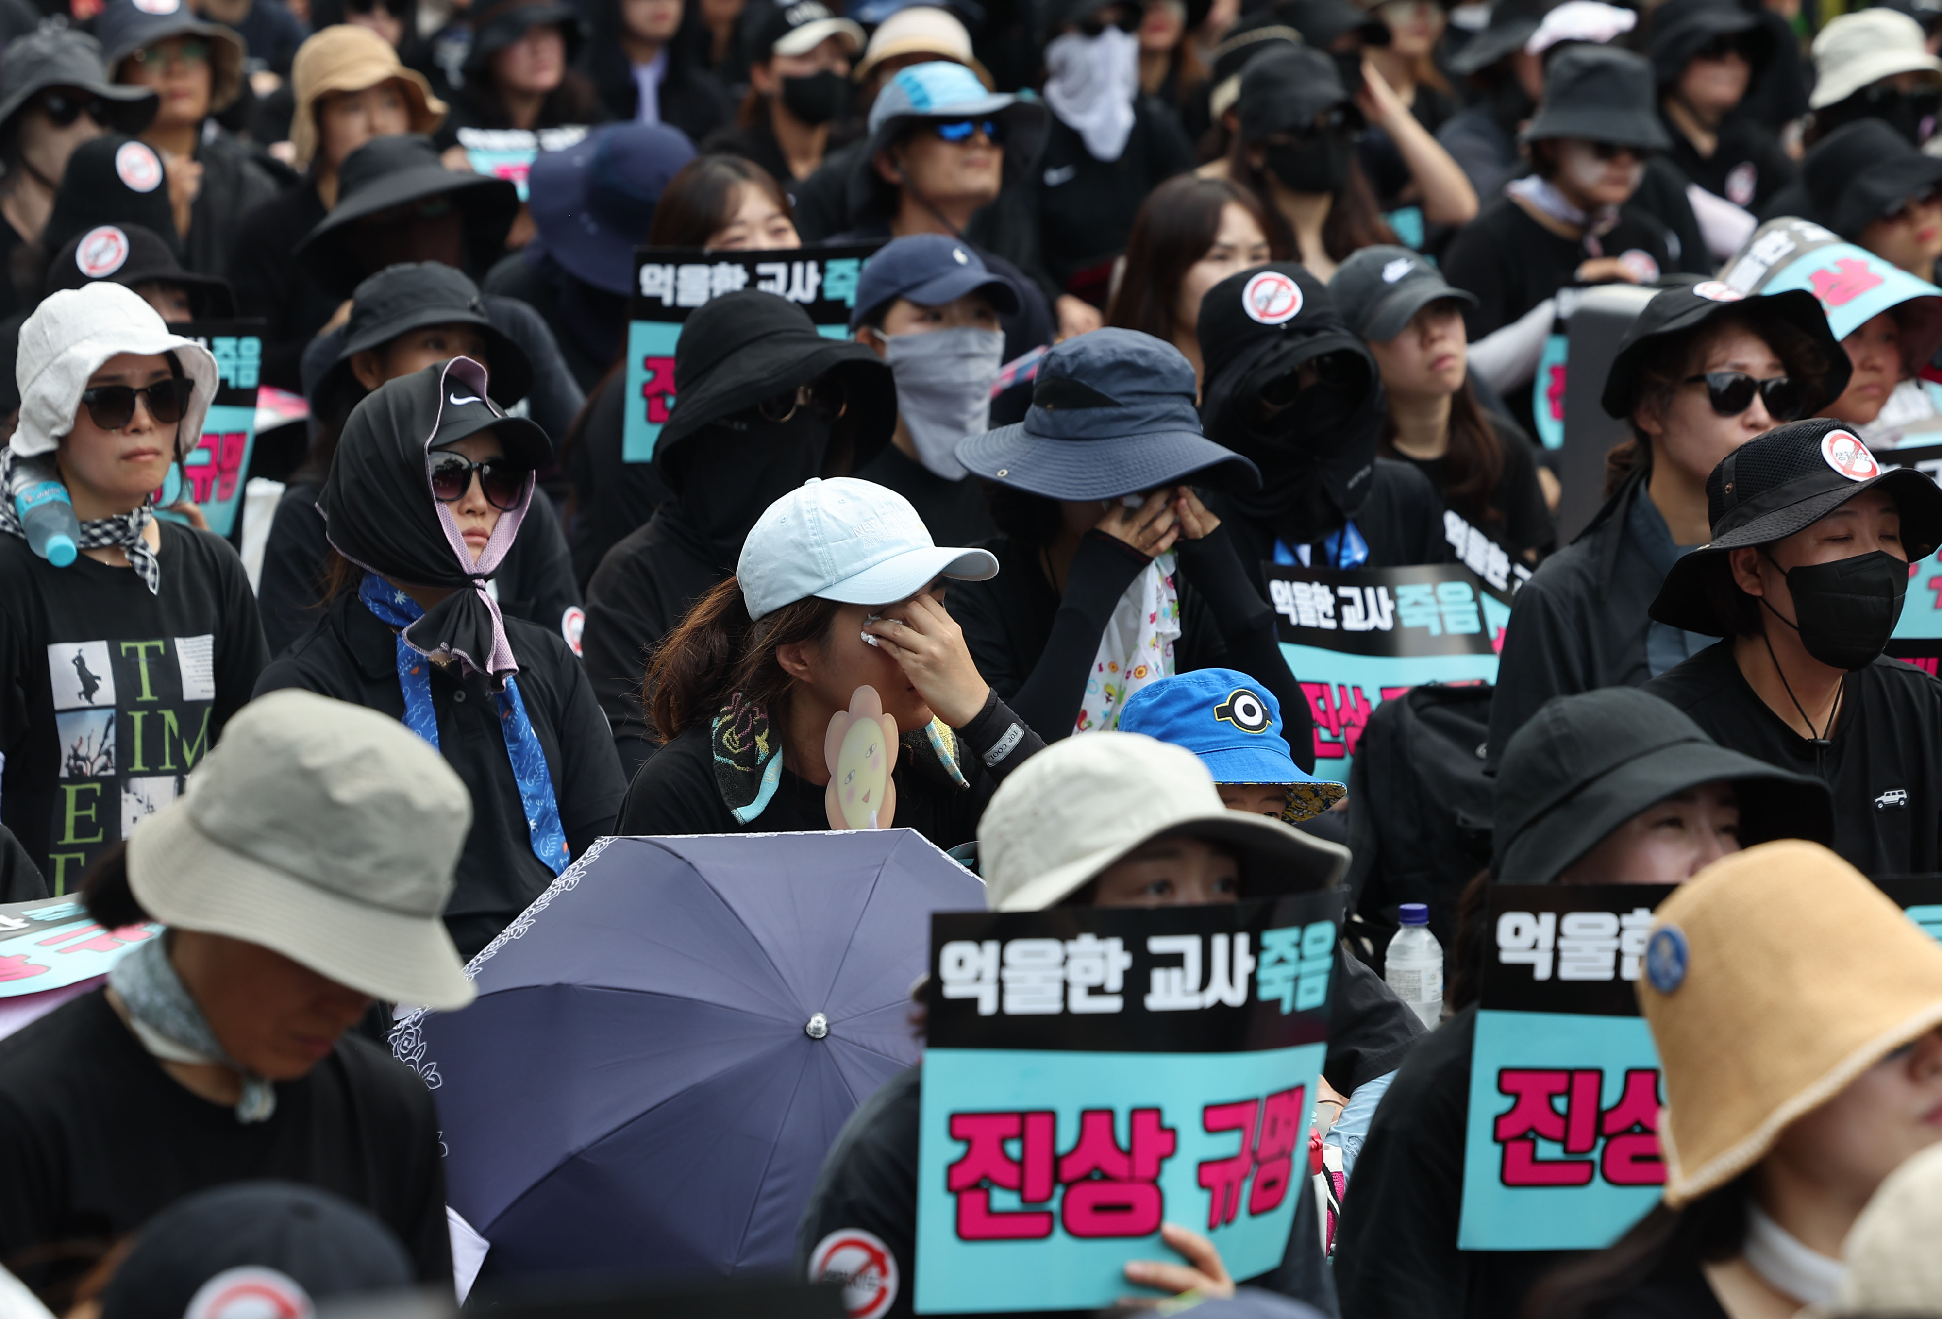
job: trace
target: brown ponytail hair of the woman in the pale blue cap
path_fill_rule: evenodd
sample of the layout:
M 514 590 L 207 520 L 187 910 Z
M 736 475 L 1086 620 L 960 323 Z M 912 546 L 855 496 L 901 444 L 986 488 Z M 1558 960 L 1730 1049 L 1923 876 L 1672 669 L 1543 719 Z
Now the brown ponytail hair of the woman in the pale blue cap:
M 730 695 L 761 705 L 783 727 L 796 680 L 777 662 L 783 645 L 820 643 L 829 635 L 835 600 L 808 596 L 750 620 L 742 583 L 730 577 L 689 606 L 654 649 L 641 684 L 641 705 L 662 742 L 709 719 Z

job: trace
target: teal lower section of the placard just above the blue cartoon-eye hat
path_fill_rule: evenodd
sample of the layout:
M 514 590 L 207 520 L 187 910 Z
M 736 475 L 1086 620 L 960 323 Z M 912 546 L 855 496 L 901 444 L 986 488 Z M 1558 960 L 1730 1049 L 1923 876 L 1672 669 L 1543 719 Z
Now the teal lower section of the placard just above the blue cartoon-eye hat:
M 1476 596 L 1484 602 L 1484 629 L 1493 645 L 1490 655 L 1348 655 L 1282 641 L 1282 659 L 1309 697 L 1309 713 L 1315 717 L 1317 779 L 1348 783 L 1356 742 L 1361 740 L 1369 715 L 1389 697 L 1423 682 L 1497 682 L 1497 651 L 1503 649 L 1511 606 L 1488 591 L 1478 591 Z M 1288 721 L 1288 711 L 1282 719 Z M 1293 723 L 1289 736 L 1299 736 L 1299 723 Z

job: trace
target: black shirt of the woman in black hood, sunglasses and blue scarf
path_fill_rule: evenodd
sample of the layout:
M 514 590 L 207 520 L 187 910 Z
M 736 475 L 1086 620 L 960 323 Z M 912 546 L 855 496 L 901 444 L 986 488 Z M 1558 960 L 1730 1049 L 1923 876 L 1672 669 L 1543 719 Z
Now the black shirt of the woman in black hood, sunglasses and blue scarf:
M 614 831 L 627 791 L 606 719 L 579 659 L 557 629 L 505 620 L 519 660 L 519 699 L 546 754 L 559 826 L 575 857 Z M 458 888 L 445 903 L 445 927 L 470 958 L 526 909 L 553 872 L 532 853 L 526 808 L 505 750 L 499 703 L 482 674 L 431 666 L 431 709 L 439 754 L 472 795 L 472 829 L 458 857 Z M 262 670 L 256 692 L 301 688 L 404 721 L 398 635 L 355 594 L 342 594 L 307 633 Z

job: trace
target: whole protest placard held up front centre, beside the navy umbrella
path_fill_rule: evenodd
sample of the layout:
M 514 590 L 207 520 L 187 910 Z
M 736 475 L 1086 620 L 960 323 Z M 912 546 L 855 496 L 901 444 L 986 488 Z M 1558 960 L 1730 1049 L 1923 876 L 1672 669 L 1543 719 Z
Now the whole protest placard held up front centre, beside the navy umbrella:
M 1340 923 L 1340 892 L 934 915 L 917 1313 L 1111 1305 L 1163 1220 L 1280 1265 Z

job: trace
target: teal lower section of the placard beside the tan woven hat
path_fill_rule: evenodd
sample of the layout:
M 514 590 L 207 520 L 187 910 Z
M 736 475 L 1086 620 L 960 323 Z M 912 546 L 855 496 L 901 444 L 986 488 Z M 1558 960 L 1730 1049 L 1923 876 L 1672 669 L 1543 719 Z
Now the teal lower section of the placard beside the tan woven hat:
M 1625 1234 L 1631 1224 L 1658 1202 L 1660 1185 L 1614 1185 L 1608 1173 L 1625 1175 L 1624 1160 L 1610 1142 L 1631 1134 L 1637 1127 L 1606 1134 L 1606 1127 L 1622 1121 L 1620 1101 L 1625 1096 L 1627 1072 L 1649 1068 L 1657 1086 L 1658 1051 L 1653 1032 L 1637 1016 L 1577 1016 L 1569 1012 L 1497 1012 L 1476 1014 L 1476 1053 L 1470 1063 L 1470 1129 L 1464 1133 L 1462 1226 L 1456 1245 L 1466 1251 L 1579 1251 L 1604 1249 Z M 1521 1171 L 1505 1142 L 1497 1140 L 1497 1119 L 1519 1105 L 1517 1082 L 1505 1072 L 1567 1074 L 1548 1099 L 1557 1115 L 1557 1127 L 1583 1123 L 1592 1148 L 1565 1152 L 1561 1140 L 1534 1140 L 1532 1156 L 1538 1171 Z M 1573 1088 L 1569 1074 L 1602 1072 L 1596 1084 L 1598 1113 L 1573 1113 L 1573 1105 L 1590 1099 L 1590 1086 Z M 1505 1090 L 1513 1084 L 1513 1090 Z M 1606 1117 L 1610 1115 L 1610 1117 Z M 1653 1107 L 1657 1123 L 1657 1105 Z M 1612 1154 L 1612 1158 L 1608 1158 Z M 1585 1185 L 1528 1185 L 1534 1177 L 1561 1179 L 1557 1160 L 1577 1160 L 1569 1175 L 1583 1175 Z M 1507 1181 L 1526 1185 L 1507 1185 Z

